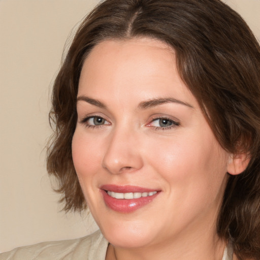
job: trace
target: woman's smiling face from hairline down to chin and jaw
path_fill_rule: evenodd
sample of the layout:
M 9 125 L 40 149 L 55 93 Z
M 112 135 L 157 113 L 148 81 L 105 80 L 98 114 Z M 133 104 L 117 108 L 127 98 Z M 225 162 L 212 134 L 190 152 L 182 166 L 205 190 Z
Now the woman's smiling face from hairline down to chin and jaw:
M 142 38 L 95 46 L 81 72 L 77 112 L 75 169 L 110 243 L 148 247 L 215 234 L 230 156 L 167 44 Z

